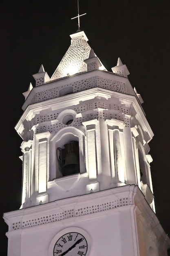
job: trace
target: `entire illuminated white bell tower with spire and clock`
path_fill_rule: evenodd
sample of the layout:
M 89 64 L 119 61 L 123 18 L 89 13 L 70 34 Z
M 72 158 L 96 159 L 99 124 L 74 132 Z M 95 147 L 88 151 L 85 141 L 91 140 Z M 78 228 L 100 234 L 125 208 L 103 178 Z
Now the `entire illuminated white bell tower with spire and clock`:
M 143 100 L 118 58 L 106 70 L 84 31 L 24 92 L 22 204 L 4 214 L 8 256 L 162 256 Z

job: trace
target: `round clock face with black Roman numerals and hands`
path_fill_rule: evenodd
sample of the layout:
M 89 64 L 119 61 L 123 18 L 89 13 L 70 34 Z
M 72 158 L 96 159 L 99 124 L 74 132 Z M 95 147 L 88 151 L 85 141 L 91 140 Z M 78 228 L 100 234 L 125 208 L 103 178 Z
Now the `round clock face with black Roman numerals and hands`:
M 53 256 L 85 256 L 87 249 L 87 241 L 82 234 L 69 232 L 57 240 L 54 246 Z

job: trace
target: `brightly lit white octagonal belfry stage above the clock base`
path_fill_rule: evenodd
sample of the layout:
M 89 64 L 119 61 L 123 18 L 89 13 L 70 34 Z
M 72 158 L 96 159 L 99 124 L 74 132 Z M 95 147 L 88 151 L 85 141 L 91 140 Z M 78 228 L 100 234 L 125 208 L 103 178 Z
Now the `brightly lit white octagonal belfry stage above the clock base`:
M 72 35 L 74 47 L 64 56 L 68 63 L 68 56 L 75 53 L 75 63 L 82 52 L 81 44 L 76 48 L 79 40 L 89 49 L 84 32 L 76 34 Z M 67 68 L 67 62 L 62 61 L 57 70 Z M 130 82 L 122 74 L 99 70 L 102 64 L 92 50 L 85 62 L 78 58 L 78 63 L 86 67 L 84 72 L 80 68 L 74 76 L 54 81 L 53 75 L 44 80 L 31 90 L 22 107 L 24 113 L 15 127 L 23 138 L 21 208 L 89 193 L 92 184 L 95 191 L 125 184 L 141 189 L 139 150 L 144 159 L 143 183 L 153 192 L 147 159 L 153 133 Z M 125 68 L 120 60 L 118 64 L 117 69 Z M 47 75 L 43 66 L 38 74 Z M 79 142 L 80 173 L 62 177 L 56 151 L 71 140 Z M 149 204 L 154 209 L 152 200 Z

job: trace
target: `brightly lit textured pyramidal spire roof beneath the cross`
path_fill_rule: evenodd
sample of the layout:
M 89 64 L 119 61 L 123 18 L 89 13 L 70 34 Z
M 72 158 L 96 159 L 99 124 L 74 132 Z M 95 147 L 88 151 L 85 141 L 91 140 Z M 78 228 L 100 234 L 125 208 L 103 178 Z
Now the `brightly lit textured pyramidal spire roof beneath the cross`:
M 87 43 L 88 38 L 84 31 L 79 31 L 70 35 L 70 37 L 71 45 L 62 58 L 54 74 L 51 76 L 51 80 L 87 71 L 84 60 L 89 57 L 91 51 L 91 47 Z M 100 70 L 101 69 L 106 70 L 104 65 L 100 67 Z

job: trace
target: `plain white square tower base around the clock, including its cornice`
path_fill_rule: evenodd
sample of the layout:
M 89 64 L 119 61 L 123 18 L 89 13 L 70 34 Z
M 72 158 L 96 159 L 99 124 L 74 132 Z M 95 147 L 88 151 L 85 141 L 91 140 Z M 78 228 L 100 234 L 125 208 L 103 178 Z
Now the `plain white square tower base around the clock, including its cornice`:
M 169 243 L 135 185 L 6 213 L 5 220 L 8 256 L 53 256 L 57 234 L 76 228 L 90 237 L 88 255 L 92 256 L 162 256 Z

